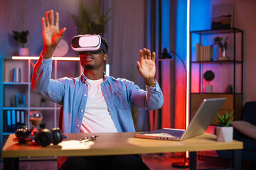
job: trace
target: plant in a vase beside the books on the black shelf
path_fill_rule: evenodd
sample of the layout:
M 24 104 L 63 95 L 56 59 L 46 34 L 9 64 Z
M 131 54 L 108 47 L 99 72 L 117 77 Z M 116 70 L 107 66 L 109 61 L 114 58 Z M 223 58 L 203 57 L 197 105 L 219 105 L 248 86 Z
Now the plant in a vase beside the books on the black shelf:
M 223 42 L 223 38 L 222 37 L 215 37 L 214 38 L 214 44 L 213 45 L 218 45 L 218 47 L 220 47 L 220 54 L 221 56 L 218 57 L 218 60 L 229 60 L 229 57 L 227 55 L 227 50 L 228 50 L 228 37 L 225 38 L 224 42 Z

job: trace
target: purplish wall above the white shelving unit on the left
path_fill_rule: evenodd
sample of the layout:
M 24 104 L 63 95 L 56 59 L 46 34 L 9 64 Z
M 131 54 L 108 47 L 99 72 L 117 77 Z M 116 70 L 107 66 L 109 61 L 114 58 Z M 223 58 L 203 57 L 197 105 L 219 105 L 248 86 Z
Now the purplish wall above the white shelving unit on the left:
M 85 6 L 92 6 L 95 1 L 82 1 Z M 30 49 L 30 55 L 40 55 L 43 49 L 41 18 L 45 17 L 46 11 L 53 9 L 60 13 L 60 29 L 67 30 L 63 39 L 70 42 L 77 34 L 77 28 L 73 23 L 70 14 L 78 15 L 79 1 L 70 0 L 9 0 L 0 1 L 0 56 L 10 58 L 18 54 L 20 45 L 12 38 L 12 30 L 28 30 L 28 42 L 25 47 Z M 75 56 L 70 48 L 66 56 Z

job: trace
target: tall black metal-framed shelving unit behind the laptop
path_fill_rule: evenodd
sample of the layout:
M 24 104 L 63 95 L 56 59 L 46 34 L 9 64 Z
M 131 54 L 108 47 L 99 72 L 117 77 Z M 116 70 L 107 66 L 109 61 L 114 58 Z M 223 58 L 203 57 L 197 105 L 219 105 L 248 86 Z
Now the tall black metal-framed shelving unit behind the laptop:
M 243 62 L 243 33 L 238 28 L 224 30 L 199 30 L 191 31 L 191 52 L 190 52 L 190 115 L 196 113 L 204 98 L 227 98 L 223 107 L 220 108 L 220 115 L 225 111 L 234 111 L 235 120 L 240 120 L 242 113 L 242 62 Z M 220 56 L 218 45 L 214 44 L 215 37 L 228 38 L 227 54 L 229 60 L 218 60 Z M 213 45 L 212 61 L 197 61 L 196 44 L 203 46 Z M 213 81 L 207 82 L 203 74 L 211 70 L 215 74 Z M 213 92 L 206 93 L 205 85 L 213 85 Z M 227 86 L 233 87 L 232 92 L 227 92 Z M 215 125 L 213 120 L 212 125 Z

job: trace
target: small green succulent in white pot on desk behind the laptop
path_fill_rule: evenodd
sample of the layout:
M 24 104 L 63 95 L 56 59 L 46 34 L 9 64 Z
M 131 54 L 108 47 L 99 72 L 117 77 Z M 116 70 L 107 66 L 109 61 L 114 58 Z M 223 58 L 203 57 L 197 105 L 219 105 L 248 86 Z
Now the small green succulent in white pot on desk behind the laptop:
M 223 116 L 216 113 L 218 120 L 215 122 L 219 125 L 216 127 L 216 135 L 218 142 L 232 142 L 233 141 L 233 127 L 230 123 L 234 120 L 234 111 L 230 114 L 225 112 Z

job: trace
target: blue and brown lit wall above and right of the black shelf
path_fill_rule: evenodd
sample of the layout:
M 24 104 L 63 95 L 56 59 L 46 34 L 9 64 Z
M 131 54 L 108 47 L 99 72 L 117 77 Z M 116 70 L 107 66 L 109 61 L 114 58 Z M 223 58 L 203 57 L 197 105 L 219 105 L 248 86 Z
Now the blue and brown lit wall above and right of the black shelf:
M 256 101 L 256 1 L 251 0 L 191 0 L 191 30 L 210 29 L 211 11 L 213 4 L 234 3 L 233 27 L 244 31 L 243 48 L 243 102 Z

